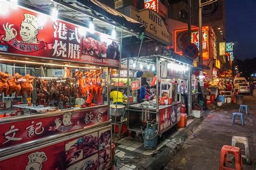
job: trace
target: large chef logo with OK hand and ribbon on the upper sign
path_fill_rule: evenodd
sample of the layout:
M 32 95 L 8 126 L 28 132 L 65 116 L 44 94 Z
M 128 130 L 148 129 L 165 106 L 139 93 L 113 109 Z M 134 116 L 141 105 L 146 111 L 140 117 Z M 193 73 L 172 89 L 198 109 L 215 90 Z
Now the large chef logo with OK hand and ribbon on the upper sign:
M 13 26 L 14 24 L 9 24 L 9 22 L 3 23 L 5 34 L 0 35 L 1 41 L 23 52 L 36 52 L 42 48 L 51 49 L 52 44 L 46 44 L 37 39 L 39 30 L 43 30 L 43 26 L 36 16 L 24 13 L 24 20 L 19 26 L 19 31 Z M 20 40 L 16 38 L 17 34 L 21 37 Z

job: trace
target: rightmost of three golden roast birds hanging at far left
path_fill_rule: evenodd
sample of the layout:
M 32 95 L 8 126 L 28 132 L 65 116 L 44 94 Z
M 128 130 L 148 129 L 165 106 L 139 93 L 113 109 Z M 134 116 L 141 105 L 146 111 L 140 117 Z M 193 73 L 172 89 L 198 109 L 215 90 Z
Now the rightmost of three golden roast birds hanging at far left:
M 21 77 L 21 79 L 22 97 L 25 97 L 25 94 L 27 95 L 27 97 L 30 97 L 33 91 L 33 79 L 35 79 L 35 77 L 31 76 L 30 74 L 26 74 L 25 76 Z

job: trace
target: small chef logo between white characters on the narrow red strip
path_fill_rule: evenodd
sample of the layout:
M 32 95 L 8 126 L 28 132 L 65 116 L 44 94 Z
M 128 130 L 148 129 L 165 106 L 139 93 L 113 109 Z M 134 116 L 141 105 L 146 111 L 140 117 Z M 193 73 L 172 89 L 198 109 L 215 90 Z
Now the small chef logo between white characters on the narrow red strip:
M 62 117 L 62 121 L 60 121 L 60 118 L 55 119 L 55 126 L 50 127 L 49 131 L 60 131 L 60 132 L 66 132 L 73 128 L 73 126 L 76 126 L 76 122 L 72 122 L 72 115 L 74 115 L 74 112 L 65 112 L 65 114 Z

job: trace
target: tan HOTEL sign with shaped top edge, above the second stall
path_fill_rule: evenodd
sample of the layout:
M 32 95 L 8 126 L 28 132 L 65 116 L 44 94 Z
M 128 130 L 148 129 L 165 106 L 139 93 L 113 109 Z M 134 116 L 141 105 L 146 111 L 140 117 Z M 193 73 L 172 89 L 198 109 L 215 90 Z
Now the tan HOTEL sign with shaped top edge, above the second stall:
M 146 33 L 152 35 L 154 39 L 162 40 L 166 45 L 172 45 L 172 34 L 168 31 L 163 18 L 157 12 L 150 9 L 138 11 L 131 7 L 131 18 L 142 23 Z

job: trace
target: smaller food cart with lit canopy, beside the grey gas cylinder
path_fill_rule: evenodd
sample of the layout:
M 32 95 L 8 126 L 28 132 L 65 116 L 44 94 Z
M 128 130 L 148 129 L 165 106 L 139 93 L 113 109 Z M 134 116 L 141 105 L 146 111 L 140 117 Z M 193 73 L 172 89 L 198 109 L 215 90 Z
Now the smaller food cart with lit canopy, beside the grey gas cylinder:
M 147 65 L 156 68 L 155 82 L 157 89 L 153 100 L 128 105 L 126 109 L 128 110 L 128 130 L 132 131 L 132 136 L 135 136 L 136 132 L 142 133 L 142 128 L 144 128 L 147 121 L 156 120 L 158 123 L 158 135 L 161 136 L 165 131 L 176 126 L 180 120 L 181 102 L 172 98 L 177 96 L 178 91 L 177 89 L 172 91 L 173 87 L 176 86 L 172 75 L 185 75 L 190 68 L 190 63 L 179 62 L 179 60 L 173 59 L 171 55 L 153 55 L 129 58 L 127 60 L 129 60 L 128 62 L 131 63 L 131 66 L 132 62 L 138 62 L 138 66 L 140 66 L 146 61 Z M 161 67 L 163 65 L 166 67 Z M 168 102 L 163 104 L 159 100 L 167 100 Z

